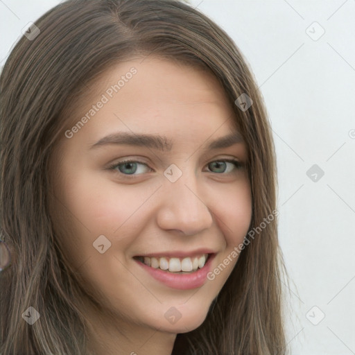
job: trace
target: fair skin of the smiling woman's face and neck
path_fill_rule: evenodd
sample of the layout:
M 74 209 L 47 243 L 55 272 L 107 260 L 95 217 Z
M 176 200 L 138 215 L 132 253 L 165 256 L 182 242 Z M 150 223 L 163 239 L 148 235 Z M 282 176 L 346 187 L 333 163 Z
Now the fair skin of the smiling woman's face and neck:
M 205 320 L 237 257 L 214 280 L 190 289 L 158 281 L 133 257 L 208 248 L 215 254 L 211 270 L 223 263 L 243 241 L 252 214 L 245 166 L 223 159 L 245 164 L 248 156 L 238 140 L 207 148 L 221 137 L 239 136 L 218 80 L 159 58 L 123 62 L 103 73 L 94 94 L 70 108 L 73 124 L 131 67 L 135 76 L 60 142 L 53 215 L 58 230 L 66 231 L 60 240 L 65 257 L 102 307 L 96 311 L 87 299 L 78 305 L 89 320 L 91 349 L 97 355 L 167 355 L 176 334 Z M 172 147 L 164 152 L 128 144 L 90 148 L 116 132 L 164 136 Z M 141 163 L 118 165 L 123 159 Z M 116 168 L 110 170 L 112 164 Z M 182 172 L 175 182 L 164 175 L 171 164 Z M 103 254 L 93 246 L 101 235 L 111 242 Z M 181 315 L 177 322 L 164 316 L 171 307 Z

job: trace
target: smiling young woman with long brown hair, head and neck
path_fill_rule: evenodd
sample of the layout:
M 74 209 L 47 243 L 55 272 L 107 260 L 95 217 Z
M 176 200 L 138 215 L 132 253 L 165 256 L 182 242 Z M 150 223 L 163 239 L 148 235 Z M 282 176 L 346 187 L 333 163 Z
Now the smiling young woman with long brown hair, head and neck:
M 230 37 L 175 0 L 28 33 L 0 81 L 1 355 L 286 354 L 274 148 Z

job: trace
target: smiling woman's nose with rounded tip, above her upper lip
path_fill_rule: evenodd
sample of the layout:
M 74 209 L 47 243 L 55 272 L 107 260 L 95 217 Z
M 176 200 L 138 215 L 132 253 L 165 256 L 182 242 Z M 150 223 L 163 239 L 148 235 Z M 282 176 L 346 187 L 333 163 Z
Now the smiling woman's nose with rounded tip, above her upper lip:
M 164 181 L 161 193 L 157 212 L 160 228 L 193 235 L 211 227 L 213 216 L 193 173 L 183 173 L 176 182 Z

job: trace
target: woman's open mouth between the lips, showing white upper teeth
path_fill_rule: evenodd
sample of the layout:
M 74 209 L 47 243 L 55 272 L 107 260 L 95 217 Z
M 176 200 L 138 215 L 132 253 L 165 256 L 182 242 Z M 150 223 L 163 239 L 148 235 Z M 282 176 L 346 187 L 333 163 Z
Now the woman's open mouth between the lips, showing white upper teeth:
M 153 269 L 173 274 L 191 274 L 202 269 L 213 254 L 199 254 L 194 257 L 144 257 L 133 259 Z

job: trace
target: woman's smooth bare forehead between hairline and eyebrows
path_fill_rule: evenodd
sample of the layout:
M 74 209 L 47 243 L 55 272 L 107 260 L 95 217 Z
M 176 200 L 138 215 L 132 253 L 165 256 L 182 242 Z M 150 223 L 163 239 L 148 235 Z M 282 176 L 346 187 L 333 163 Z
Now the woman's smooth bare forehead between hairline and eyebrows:
M 162 58 L 110 67 L 68 113 L 72 125 L 86 117 L 77 135 L 86 132 L 90 140 L 119 130 L 173 133 L 185 141 L 236 131 L 234 110 L 216 76 Z

